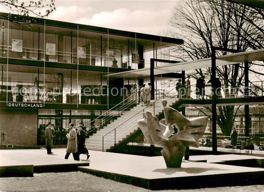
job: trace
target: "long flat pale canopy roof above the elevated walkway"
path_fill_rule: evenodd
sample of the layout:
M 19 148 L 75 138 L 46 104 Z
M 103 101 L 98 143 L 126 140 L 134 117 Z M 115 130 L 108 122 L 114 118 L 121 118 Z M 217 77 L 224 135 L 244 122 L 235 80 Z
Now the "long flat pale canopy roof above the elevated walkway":
M 264 49 L 244 51 L 216 57 L 216 66 L 232 65 L 245 61 L 264 60 Z M 188 71 L 211 67 L 211 57 L 180 63 L 171 63 L 154 67 L 154 75 L 171 72 Z M 136 69 L 131 71 L 112 73 L 108 75 L 113 78 L 147 78 L 150 76 L 150 68 Z

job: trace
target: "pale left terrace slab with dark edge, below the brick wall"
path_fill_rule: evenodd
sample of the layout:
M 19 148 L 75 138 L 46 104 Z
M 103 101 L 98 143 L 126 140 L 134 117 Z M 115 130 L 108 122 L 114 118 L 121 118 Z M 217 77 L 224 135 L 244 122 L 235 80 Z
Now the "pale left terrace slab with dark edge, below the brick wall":
M 78 166 L 89 166 L 89 160 L 64 159 L 65 149 L 5 149 L 0 150 L 0 177 L 28 177 L 33 173 L 77 171 Z M 85 155 L 86 156 L 86 155 Z M 72 158 L 72 159 L 71 159 Z

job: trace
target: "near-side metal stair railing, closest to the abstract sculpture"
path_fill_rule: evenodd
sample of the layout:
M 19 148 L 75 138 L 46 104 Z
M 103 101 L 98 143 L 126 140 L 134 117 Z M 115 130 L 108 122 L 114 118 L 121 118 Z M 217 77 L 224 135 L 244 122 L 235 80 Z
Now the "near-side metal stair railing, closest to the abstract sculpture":
M 102 151 L 104 152 L 104 142 L 105 142 L 105 137 L 107 135 L 109 135 L 110 133 L 114 132 L 114 145 L 116 144 L 116 129 L 119 128 L 120 126 L 122 126 L 124 123 L 128 122 L 131 118 L 135 117 L 136 115 L 144 112 L 146 109 L 148 109 L 148 107 L 153 106 L 153 115 L 155 115 L 155 105 L 161 105 L 161 100 L 164 99 L 164 96 L 168 95 L 170 92 L 175 91 L 175 88 L 171 89 L 170 91 L 164 93 L 162 96 L 159 96 L 156 100 L 154 100 L 152 103 L 150 103 L 149 105 L 147 105 L 146 107 L 144 107 L 142 110 L 140 110 L 139 112 L 137 112 L 136 114 L 134 114 L 132 117 L 130 117 L 129 119 L 127 119 L 126 121 L 122 122 L 120 125 L 118 125 L 117 127 L 115 127 L 114 129 L 112 129 L 111 131 L 109 131 L 108 133 L 106 133 L 106 135 L 103 136 L 103 145 L 102 145 Z M 136 119 L 133 122 L 129 123 L 129 127 L 132 127 L 133 125 L 137 124 L 138 119 Z M 120 133 L 125 133 L 127 130 L 129 129 L 125 129 L 127 128 L 127 126 L 124 126 L 122 131 Z M 124 131 L 125 130 L 125 131 Z M 121 131 L 121 130 L 120 130 Z M 119 133 L 119 134 L 120 134 Z M 121 134 L 120 134 L 121 135 Z M 111 138 L 113 139 L 113 138 Z

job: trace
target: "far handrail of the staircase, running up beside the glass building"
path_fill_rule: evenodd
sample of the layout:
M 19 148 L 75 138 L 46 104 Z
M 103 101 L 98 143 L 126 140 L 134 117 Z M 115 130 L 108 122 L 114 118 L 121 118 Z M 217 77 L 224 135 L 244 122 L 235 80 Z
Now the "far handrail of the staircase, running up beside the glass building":
M 139 93 L 140 93 L 140 91 L 138 91 L 138 92 L 132 94 L 131 96 L 129 96 L 129 97 L 127 97 L 126 99 L 122 100 L 121 102 L 119 102 L 118 104 L 116 104 L 115 106 L 113 106 L 112 108 L 110 108 L 109 110 L 107 110 L 105 113 L 103 113 L 102 115 L 100 115 L 99 117 L 95 118 L 93 121 L 91 121 L 90 123 L 87 123 L 87 124 L 84 125 L 84 126 L 87 126 L 87 125 L 89 125 L 89 124 L 91 125 L 92 122 L 95 122 L 97 119 L 101 119 L 101 117 L 104 116 L 104 115 L 107 114 L 107 113 L 108 113 L 108 115 L 106 116 L 106 119 L 103 118 L 103 120 L 106 120 L 106 121 L 107 121 L 107 120 L 111 119 L 111 116 L 110 116 L 110 114 L 109 114 L 109 112 L 110 112 L 111 110 L 113 110 L 114 108 L 116 108 L 118 105 L 124 103 L 124 101 L 126 101 L 126 100 L 128 100 L 128 99 L 131 99 L 131 98 L 134 98 L 134 96 L 135 96 L 135 95 L 137 96 L 137 94 L 139 94 Z M 115 109 L 115 111 L 118 110 L 118 114 L 119 114 L 120 111 L 122 112 L 122 111 L 125 110 L 128 106 L 130 106 L 131 104 L 133 104 L 133 102 L 128 102 L 128 103 L 125 104 L 125 105 L 121 105 L 119 108 Z M 115 111 L 111 112 L 111 114 L 115 114 Z M 108 118 L 108 119 L 107 119 L 107 118 Z M 102 119 L 101 119 L 101 120 L 102 120 Z M 101 125 L 102 125 L 102 124 L 100 124 L 100 127 L 101 127 Z M 87 132 L 86 134 L 90 133 L 91 130 L 92 130 L 92 128 L 89 129 L 88 132 Z

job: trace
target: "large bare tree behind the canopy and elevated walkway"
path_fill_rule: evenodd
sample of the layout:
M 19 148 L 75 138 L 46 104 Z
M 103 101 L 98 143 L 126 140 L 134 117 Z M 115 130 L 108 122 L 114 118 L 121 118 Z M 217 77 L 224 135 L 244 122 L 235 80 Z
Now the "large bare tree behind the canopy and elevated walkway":
M 225 0 L 184 0 L 175 8 L 170 20 L 184 45 L 175 47 L 176 60 L 195 60 L 211 57 L 211 47 L 238 51 L 263 48 L 263 10 Z M 172 35 L 173 36 L 173 35 Z M 171 50 L 170 50 L 171 52 Z M 226 52 L 217 52 L 217 56 Z M 244 67 L 240 64 L 217 67 L 223 81 L 225 96 L 232 96 L 227 88 L 235 90 L 244 82 Z M 211 79 L 211 68 L 199 69 L 192 76 Z M 211 108 L 207 108 L 211 111 Z M 224 135 L 230 135 L 238 108 L 219 106 L 217 124 Z

